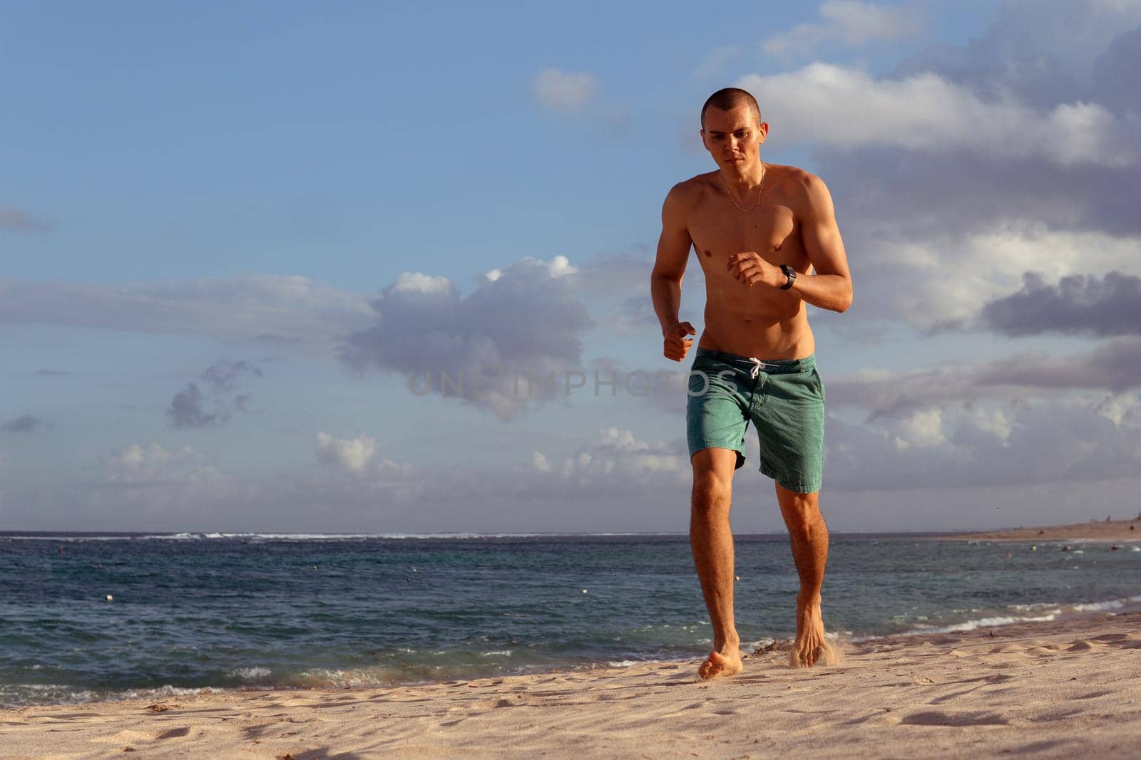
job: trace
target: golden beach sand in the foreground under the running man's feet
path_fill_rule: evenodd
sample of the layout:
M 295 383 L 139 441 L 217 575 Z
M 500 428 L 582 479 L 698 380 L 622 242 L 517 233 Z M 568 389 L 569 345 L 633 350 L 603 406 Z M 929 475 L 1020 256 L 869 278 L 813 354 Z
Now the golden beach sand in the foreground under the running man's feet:
M 1141 757 L 1141 613 L 447 684 L 0 711 L 0 757 Z M 129 750 L 128 750 L 129 747 Z

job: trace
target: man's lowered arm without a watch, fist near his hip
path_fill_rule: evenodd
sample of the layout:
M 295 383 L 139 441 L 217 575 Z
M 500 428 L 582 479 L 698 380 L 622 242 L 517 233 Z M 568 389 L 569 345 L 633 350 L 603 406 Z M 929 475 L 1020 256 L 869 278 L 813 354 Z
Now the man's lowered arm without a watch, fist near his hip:
M 693 246 L 687 215 L 685 188 L 680 183 L 674 185 L 662 204 L 662 236 L 657 240 L 657 260 L 650 275 L 650 297 L 665 341 L 663 354 L 674 361 L 685 359 L 694 344 L 686 336 L 697 334 L 689 322 L 678 322 L 681 279 Z

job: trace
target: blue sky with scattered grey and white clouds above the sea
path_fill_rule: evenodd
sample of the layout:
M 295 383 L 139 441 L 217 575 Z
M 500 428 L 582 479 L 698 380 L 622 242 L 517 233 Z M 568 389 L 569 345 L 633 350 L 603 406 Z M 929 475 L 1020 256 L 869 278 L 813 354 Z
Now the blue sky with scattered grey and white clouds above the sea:
M 0 0 L 0 530 L 686 531 L 722 87 L 848 251 L 831 529 L 1141 509 L 1141 1 Z

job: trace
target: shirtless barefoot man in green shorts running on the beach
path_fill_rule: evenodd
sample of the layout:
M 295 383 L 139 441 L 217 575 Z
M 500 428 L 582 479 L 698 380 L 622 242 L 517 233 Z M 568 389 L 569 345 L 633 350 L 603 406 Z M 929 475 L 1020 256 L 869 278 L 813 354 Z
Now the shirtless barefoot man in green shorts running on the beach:
M 686 411 L 694 471 L 689 542 L 713 623 L 702 678 L 742 669 L 729 504 L 748 420 L 761 442 L 760 469 L 776 481 L 800 575 L 792 662 L 811 667 L 830 652 L 820 616 L 828 556 L 819 507 L 824 384 L 804 302 L 842 312 L 852 284 L 828 189 L 795 166 L 763 163 L 768 131 L 745 90 L 719 90 L 705 103 L 702 142 L 718 170 L 670 190 L 652 277 L 663 352 L 681 361 L 694 344 L 687 336 L 696 335 L 678 320 L 690 246 L 705 270 L 705 329 Z

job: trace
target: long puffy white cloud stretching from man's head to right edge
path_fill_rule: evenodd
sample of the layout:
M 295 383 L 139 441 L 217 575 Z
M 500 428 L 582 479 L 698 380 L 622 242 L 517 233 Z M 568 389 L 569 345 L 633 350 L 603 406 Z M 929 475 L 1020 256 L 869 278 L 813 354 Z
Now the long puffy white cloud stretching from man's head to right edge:
M 751 74 L 737 84 L 756 97 L 778 140 L 843 150 L 969 149 L 1060 165 L 1126 166 L 1138 154 L 1138 124 L 1097 103 L 1042 109 L 1013 93 L 985 100 L 929 72 L 877 80 L 858 68 L 814 63 L 783 74 Z

